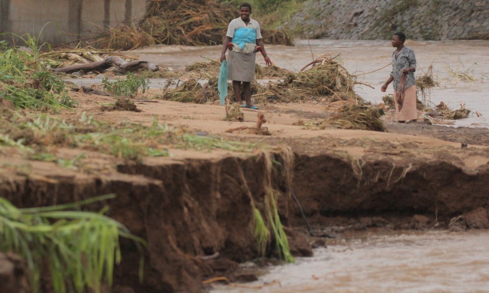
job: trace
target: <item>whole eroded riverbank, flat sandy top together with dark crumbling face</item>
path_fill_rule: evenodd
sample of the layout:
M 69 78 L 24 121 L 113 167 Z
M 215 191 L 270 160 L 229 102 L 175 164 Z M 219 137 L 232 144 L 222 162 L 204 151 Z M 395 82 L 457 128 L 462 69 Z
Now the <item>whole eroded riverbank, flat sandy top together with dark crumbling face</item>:
M 93 107 L 93 97 L 77 94 L 79 111 L 108 123 L 150 125 L 157 115 L 177 129 L 256 143 L 258 151 L 170 148 L 172 157 L 127 164 L 113 156 L 59 148 L 56 154 L 60 158 L 85 154 L 77 168 L 67 169 L 29 160 L 3 147 L 0 191 L 19 207 L 117 194 L 117 199 L 90 209 L 108 205 L 109 215 L 147 240 L 148 248 L 145 281 L 139 284 L 138 252 L 130 243 L 121 244 L 123 262 L 116 268 L 115 288 L 203 292 L 201 281 L 205 279 L 227 276 L 239 280 L 238 263 L 259 256 L 252 208 L 263 208 L 270 186 L 280 194 L 279 213 L 295 256 L 310 255 L 312 239 L 290 197 L 292 189 L 313 228 L 333 234 L 379 226 L 416 228 L 415 215 L 428 219 L 430 224 L 425 223 L 424 228 L 435 224 L 447 228 L 451 217 L 489 202 L 487 146 L 461 148 L 458 142 L 420 135 L 292 126 L 297 113 L 288 108 L 296 105 L 270 108 L 280 111 L 267 114 L 272 118 L 270 137 L 225 133 L 232 127 L 253 125 L 256 111 L 245 111 L 243 123 L 222 121 L 219 106 L 166 101 L 139 102 L 143 112 L 137 114 L 99 112 Z M 111 98 L 98 97 L 97 101 L 103 99 Z M 194 119 L 185 118 L 188 116 Z M 293 153 L 284 147 L 263 153 L 259 145 L 287 146 Z M 264 155 L 270 152 L 276 155 Z M 290 159 L 293 164 L 286 164 Z

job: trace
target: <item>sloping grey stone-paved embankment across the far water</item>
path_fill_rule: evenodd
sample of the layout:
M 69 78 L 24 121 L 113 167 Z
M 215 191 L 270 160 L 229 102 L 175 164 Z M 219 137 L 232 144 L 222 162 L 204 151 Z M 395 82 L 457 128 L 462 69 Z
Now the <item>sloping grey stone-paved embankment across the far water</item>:
M 302 37 L 489 39 L 489 0 L 307 0 L 282 27 Z

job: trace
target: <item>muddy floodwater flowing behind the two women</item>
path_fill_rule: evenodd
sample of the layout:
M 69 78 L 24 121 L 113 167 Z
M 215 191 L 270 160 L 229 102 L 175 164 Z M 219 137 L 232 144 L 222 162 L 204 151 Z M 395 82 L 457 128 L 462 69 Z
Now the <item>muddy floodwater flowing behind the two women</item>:
M 445 102 L 449 107 L 458 109 L 460 102 L 466 108 L 479 111 L 482 117 L 469 117 L 458 120 L 455 126 L 489 127 L 489 41 L 406 41 L 416 54 L 418 69 L 416 74 L 424 74 L 433 65 L 435 81 L 430 94 L 433 104 Z M 389 78 L 391 53 L 394 48 L 386 41 L 346 41 L 346 40 L 297 40 L 296 46 L 267 45 L 266 50 L 272 62 L 280 67 L 299 71 L 304 65 L 320 56 L 336 56 L 348 72 L 358 75 L 357 80 L 370 84 L 374 89 L 358 85 L 356 91 L 364 99 L 373 103 L 382 102 L 385 93 L 381 85 Z M 167 46 L 153 45 L 128 51 L 143 60 L 149 60 L 173 69 L 183 68 L 196 61 L 219 59 L 221 46 Z M 257 54 L 257 63 L 265 65 Z M 379 70 L 380 69 L 380 70 Z M 375 72 L 372 72 L 375 71 Z M 467 82 L 452 78 L 450 71 L 464 73 L 477 81 Z M 369 73 L 372 72 L 372 73 Z M 151 87 L 164 81 L 152 81 Z M 390 85 L 388 92 L 392 93 Z

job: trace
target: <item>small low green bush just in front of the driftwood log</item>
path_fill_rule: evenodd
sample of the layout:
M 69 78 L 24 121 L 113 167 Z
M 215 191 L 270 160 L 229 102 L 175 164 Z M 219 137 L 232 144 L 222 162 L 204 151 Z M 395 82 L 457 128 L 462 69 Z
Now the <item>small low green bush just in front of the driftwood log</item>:
M 149 79 L 136 76 L 134 73 L 128 73 L 125 79 L 117 79 L 109 82 L 108 78 L 102 80 L 103 88 L 109 92 L 123 97 L 132 97 L 142 90 L 143 93 L 149 89 Z

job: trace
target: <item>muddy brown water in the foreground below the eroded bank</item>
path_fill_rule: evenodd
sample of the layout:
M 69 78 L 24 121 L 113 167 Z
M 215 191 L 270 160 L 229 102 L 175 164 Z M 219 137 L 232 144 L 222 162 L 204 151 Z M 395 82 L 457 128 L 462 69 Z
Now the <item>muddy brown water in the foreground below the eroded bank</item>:
M 489 232 L 354 233 L 328 242 L 314 257 L 272 267 L 246 286 L 213 285 L 211 293 L 487 293 Z

